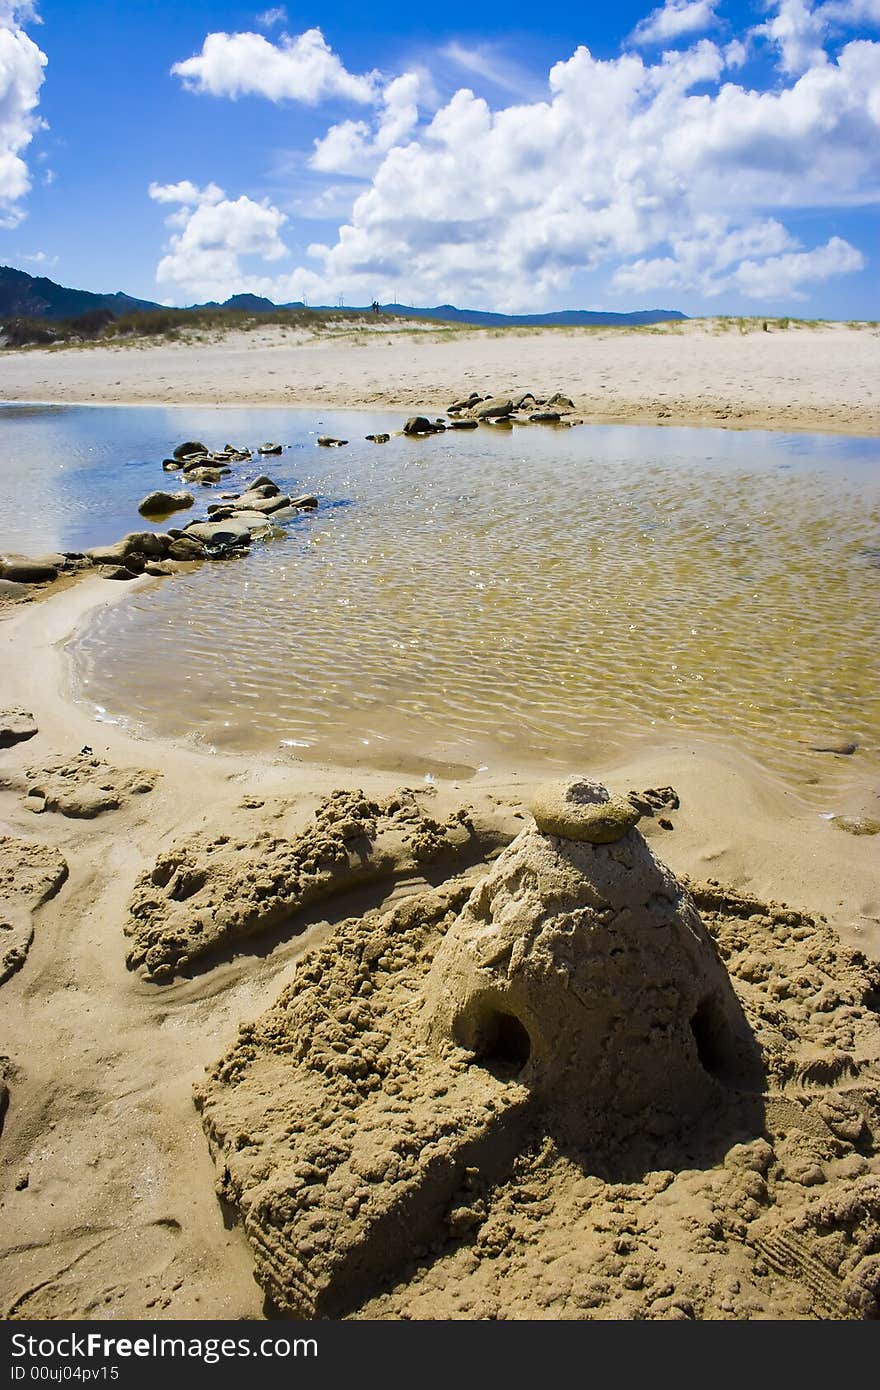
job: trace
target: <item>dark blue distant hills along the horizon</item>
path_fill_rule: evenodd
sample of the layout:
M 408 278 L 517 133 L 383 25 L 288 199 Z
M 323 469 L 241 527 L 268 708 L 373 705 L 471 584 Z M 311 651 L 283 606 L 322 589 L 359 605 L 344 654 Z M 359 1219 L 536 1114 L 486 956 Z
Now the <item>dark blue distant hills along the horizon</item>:
M 43 275 L 28 275 L 24 270 L 0 265 L 0 324 L 8 318 L 75 318 L 93 309 L 108 309 L 117 317 L 122 314 L 161 310 L 150 299 L 132 299 L 118 291 L 115 295 L 95 295 L 90 289 L 67 289 Z M 189 304 L 189 309 L 221 309 L 232 313 L 277 314 L 289 310 L 303 310 L 302 300 L 289 304 L 275 304 L 261 295 L 232 295 L 218 303 Z M 367 313 L 370 306 L 336 309 L 332 304 L 311 306 L 316 313 Z M 633 314 L 612 314 L 592 309 L 563 309 L 553 314 L 492 314 L 481 309 L 456 309 L 455 304 L 437 304 L 434 309 L 417 309 L 412 304 L 381 304 L 384 314 L 399 318 L 432 318 L 438 322 L 475 324 L 498 328 L 539 328 L 545 325 L 578 324 L 662 324 L 669 320 L 687 318 L 677 309 L 641 309 Z

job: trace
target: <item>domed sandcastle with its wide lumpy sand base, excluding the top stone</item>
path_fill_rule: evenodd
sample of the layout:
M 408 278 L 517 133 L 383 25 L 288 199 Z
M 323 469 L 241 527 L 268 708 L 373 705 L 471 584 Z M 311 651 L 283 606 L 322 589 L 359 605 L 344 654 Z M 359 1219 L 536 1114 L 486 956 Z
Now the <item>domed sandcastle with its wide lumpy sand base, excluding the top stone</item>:
M 637 830 L 528 828 L 342 923 L 196 1097 L 271 1304 L 876 1315 L 877 970 L 699 901 Z

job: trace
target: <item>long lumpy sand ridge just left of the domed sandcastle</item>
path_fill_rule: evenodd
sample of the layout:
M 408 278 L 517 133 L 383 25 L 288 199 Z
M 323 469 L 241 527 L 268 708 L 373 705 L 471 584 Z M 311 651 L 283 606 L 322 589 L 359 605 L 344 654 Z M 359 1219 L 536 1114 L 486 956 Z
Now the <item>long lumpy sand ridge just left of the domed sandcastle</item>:
M 125 927 L 132 940 L 127 960 L 153 980 L 168 980 L 334 894 L 428 866 L 455 872 L 509 838 L 500 821 L 477 823 L 466 808 L 434 820 L 412 791 L 381 802 L 361 791 L 335 791 L 293 838 L 199 833 L 138 878 Z

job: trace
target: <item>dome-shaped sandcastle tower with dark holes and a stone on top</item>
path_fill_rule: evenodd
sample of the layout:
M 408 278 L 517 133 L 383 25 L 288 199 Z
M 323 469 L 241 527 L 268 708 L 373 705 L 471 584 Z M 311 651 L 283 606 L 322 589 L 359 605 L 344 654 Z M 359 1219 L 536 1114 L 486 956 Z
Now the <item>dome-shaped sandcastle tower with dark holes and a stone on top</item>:
M 742 1074 L 749 1031 L 691 898 L 598 783 L 549 784 L 531 809 L 434 958 L 431 1044 L 605 1129 L 705 1105 Z

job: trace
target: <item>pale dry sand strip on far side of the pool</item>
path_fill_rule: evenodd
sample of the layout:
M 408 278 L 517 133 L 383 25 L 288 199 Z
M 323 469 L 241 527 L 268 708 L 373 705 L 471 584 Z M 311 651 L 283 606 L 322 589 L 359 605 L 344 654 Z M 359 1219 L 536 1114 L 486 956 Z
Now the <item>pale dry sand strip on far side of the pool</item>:
M 562 389 L 591 421 L 880 427 L 876 325 L 695 320 L 642 329 L 281 328 L 139 348 L 4 352 L 6 400 L 445 410 L 471 391 Z

